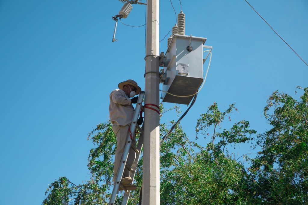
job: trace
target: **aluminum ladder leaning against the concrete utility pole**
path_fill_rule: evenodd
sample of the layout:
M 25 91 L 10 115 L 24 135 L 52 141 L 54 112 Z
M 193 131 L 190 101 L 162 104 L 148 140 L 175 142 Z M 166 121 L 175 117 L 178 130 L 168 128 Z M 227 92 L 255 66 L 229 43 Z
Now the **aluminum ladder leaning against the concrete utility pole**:
M 137 104 L 136 104 L 135 112 L 134 112 L 131 127 L 130 127 L 130 131 L 132 133 L 132 136 L 135 135 L 136 127 L 140 131 L 140 137 L 139 137 L 139 140 L 138 140 L 138 144 L 137 144 L 137 147 L 132 145 L 130 133 L 128 133 L 127 139 L 126 139 L 126 144 L 125 144 L 123 155 L 122 155 L 122 159 L 121 159 L 121 163 L 120 163 L 119 170 L 118 170 L 118 174 L 117 174 L 117 177 L 115 179 L 115 184 L 114 184 L 114 187 L 113 187 L 113 190 L 112 190 L 112 193 L 111 193 L 110 201 L 108 203 L 109 205 L 114 205 L 116 196 L 117 196 L 118 191 L 119 191 L 119 187 L 121 187 L 124 190 L 123 201 L 122 201 L 121 204 L 127 205 L 127 202 L 128 202 L 130 191 L 126 190 L 125 187 L 122 184 L 120 184 L 120 181 L 122 179 L 124 169 L 126 168 L 131 173 L 132 183 L 134 182 L 136 168 L 137 168 L 137 164 L 139 162 L 140 152 L 141 152 L 141 149 L 142 149 L 142 146 L 143 146 L 143 130 L 139 127 L 139 125 L 137 125 L 137 120 L 138 120 L 138 117 L 139 117 L 140 109 L 142 107 L 143 98 L 144 98 L 144 91 L 141 91 L 140 94 L 139 94 L 139 97 L 138 97 L 138 101 L 137 101 Z M 132 166 L 126 164 L 126 161 L 127 161 L 127 158 L 128 158 L 128 153 L 129 153 L 130 149 L 133 149 L 136 153 L 135 161 L 133 162 Z

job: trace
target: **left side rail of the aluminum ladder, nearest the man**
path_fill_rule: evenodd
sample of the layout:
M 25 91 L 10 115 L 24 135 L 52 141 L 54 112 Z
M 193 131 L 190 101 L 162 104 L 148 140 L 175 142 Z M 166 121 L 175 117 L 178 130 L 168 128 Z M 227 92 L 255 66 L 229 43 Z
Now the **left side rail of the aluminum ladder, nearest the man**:
M 134 135 L 134 133 L 135 133 L 137 119 L 139 117 L 143 98 L 144 98 L 144 91 L 141 91 L 140 94 L 139 94 L 139 97 L 138 97 L 137 105 L 136 105 L 135 112 L 134 112 L 134 115 L 133 115 L 133 118 L 132 118 L 132 123 L 131 123 L 131 126 L 130 126 L 130 131 L 131 131 L 132 135 Z M 120 163 L 118 173 L 117 173 L 117 177 L 116 177 L 116 180 L 115 180 L 115 184 L 114 184 L 111 196 L 110 196 L 109 205 L 113 205 L 115 203 L 115 199 L 116 199 L 117 193 L 119 191 L 119 187 L 120 187 L 120 181 L 122 179 L 124 169 L 125 169 L 125 164 L 126 164 L 126 161 L 127 161 L 127 158 L 128 158 L 128 153 L 129 153 L 129 150 L 131 148 L 131 143 L 132 143 L 132 140 L 130 138 L 130 133 L 128 133 L 126 145 L 124 147 L 124 151 L 123 151 L 123 154 L 122 154 L 121 163 Z

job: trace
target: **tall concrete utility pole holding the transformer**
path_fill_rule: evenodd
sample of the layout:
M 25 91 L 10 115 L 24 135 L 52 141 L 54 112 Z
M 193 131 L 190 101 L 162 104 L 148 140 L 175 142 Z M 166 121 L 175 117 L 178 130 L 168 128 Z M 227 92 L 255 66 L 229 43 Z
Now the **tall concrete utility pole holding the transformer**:
M 145 50 L 146 55 L 159 55 L 159 0 L 148 0 L 147 2 Z M 146 58 L 145 72 L 145 104 L 151 103 L 159 106 L 159 57 L 148 56 Z M 151 109 L 146 109 L 142 177 L 143 205 L 160 204 L 159 171 L 159 115 Z

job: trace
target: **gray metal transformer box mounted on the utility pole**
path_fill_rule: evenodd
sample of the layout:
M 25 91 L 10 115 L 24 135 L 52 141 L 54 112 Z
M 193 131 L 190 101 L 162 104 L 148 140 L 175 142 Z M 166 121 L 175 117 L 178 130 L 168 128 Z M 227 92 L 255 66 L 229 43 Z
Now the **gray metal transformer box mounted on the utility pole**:
M 163 90 L 179 96 L 195 94 L 203 82 L 203 44 L 206 38 L 174 34 L 168 46 Z M 187 49 L 192 47 L 192 51 Z M 163 102 L 188 105 L 193 96 L 176 97 L 163 92 Z

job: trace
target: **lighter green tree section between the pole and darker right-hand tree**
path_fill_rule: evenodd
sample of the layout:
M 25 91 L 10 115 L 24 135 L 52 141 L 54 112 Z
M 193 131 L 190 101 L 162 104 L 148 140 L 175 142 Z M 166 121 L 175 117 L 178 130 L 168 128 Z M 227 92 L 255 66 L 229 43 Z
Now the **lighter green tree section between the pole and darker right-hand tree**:
M 197 120 L 197 134 L 202 131 L 207 136 L 210 128 L 213 130 L 211 140 L 205 147 L 191 142 L 180 126 L 176 127 L 169 141 L 161 146 L 161 160 L 164 162 L 161 163 L 160 183 L 162 204 L 249 202 L 245 193 L 248 190 L 248 175 L 242 163 L 231 159 L 228 153 L 225 155 L 225 146 L 246 143 L 256 131 L 249 129 L 249 122 L 240 121 L 228 130 L 217 132 L 234 109 L 234 104 L 231 104 L 226 111 L 221 112 L 217 103 L 214 103 Z

